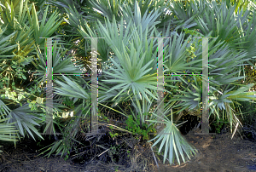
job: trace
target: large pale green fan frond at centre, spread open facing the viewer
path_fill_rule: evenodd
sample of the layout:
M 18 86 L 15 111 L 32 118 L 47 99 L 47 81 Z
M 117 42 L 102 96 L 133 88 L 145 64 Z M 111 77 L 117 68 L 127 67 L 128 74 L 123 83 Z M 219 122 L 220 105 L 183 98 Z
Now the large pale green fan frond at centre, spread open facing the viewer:
M 112 79 L 102 80 L 106 83 L 116 84 L 112 89 L 109 89 L 108 92 L 113 89 L 121 89 L 118 94 L 120 95 L 124 91 L 131 89 L 132 93 L 134 95 L 138 94 L 140 98 L 142 98 L 143 95 L 149 101 L 148 96 L 146 95 L 147 93 L 148 95 L 153 96 L 154 99 L 157 99 L 148 91 L 148 89 L 157 89 L 157 87 L 154 86 L 157 81 L 156 73 L 148 74 L 148 72 L 152 70 L 151 68 L 148 68 L 148 66 L 153 60 L 148 61 L 148 63 L 143 66 L 143 60 L 146 53 L 141 53 L 141 49 L 141 47 L 135 49 L 133 43 L 131 43 L 130 54 L 127 53 L 124 43 L 122 53 L 120 53 L 118 49 L 113 49 L 117 59 L 111 59 L 114 66 L 110 68 L 109 72 L 106 72 Z M 139 61 L 139 63 L 137 63 L 137 61 Z

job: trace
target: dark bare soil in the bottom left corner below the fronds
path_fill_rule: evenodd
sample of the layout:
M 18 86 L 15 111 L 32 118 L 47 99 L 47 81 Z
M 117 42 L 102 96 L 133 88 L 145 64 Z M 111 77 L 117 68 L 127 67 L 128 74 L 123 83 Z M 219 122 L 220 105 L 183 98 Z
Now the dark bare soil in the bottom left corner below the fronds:
M 2 144 L 3 145 L 3 144 Z M 52 172 L 52 171 L 73 171 L 79 172 L 82 166 L 65 161 L 63 158 L 38 156 L 30 143 L 20 143 L 16 146 L 4 145 L 3 153 L 0 156 L 1 172 Z

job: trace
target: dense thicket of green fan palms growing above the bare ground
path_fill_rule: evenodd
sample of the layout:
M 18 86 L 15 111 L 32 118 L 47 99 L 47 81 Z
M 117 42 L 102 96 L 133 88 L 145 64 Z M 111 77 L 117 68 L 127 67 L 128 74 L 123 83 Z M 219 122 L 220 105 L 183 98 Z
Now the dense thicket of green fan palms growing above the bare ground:
M 90 39 L 98 39 L 98 109 L 102 133 L 129 133 L 154 143 L 164 161 L 195 154 L 177 129 L 183 112 L 201 117 L 201 75 L 165 77 L 164 133 L 156 129 L 157 39 L 164 40 L 164 71 L 201 73 L 209 39 L 209 114 L 240 127 L 241 101 L 255 100 L 256 3 L 253 1 L 0 0 L 0 140 L 44 139 L 46 42 L 53 73 L 90 74 Z M 245 70 L 246 69 L 246 70 Z M 46 150 L 70 153 L 90 130 L 90 77 L 55 75 L 54 129 L 61 137 Z M 251 91 L 249 91 L 251 89 Z M 253 104 L 252 104 L 253 105 Z M 73 112 L 73 117 L 62 114 Z M 114 113 L 121 123 L 109 122 Z M 173 113 L 172 113 L 173 112 Z M 235 130 L 236 132 L 236 130 Z M 90 138 L 89 138 L 90 137 Z M 85 139 L 84 139 L 85 140 Z M 102 152 L 107 150 L 102 148 Z

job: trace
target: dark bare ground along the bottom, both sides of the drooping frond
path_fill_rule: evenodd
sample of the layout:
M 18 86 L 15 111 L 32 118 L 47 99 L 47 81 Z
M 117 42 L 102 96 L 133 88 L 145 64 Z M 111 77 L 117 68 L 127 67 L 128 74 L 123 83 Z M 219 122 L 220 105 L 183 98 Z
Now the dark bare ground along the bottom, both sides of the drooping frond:
M 147 171 L 256 171 L 255 142 L 242 140 L 241 135 L 237 132 L 232 140 L 230 139 L 230 133 L 224 135 L 195 135 L 195 132 L 197 131 L 193 130 L 188 135 L 184 135 L 186 140 L 199 151 L 194 158 L 191 158 L 187 163 L 181 163 L 180 166 L 177 164 L 172 166 L 163 165 L 158 162 L 160 169 L 152 161 L 149 165 L 151 169 Z M 38 156 L 38 151 L 32 148 L 32 144 L 35 144 L 35 142 L 26 141 L 18 144 L 15 148 L 4 143 L 3 153 L 0 156 L 0 172 L 104 171 L 100 168 L 103 165 L 102 163 L 78 164 L 73 163 L 71 159 L 65 161 L 59 157 L 44 158 Z M 108 168 L 108 171 L 123 171 L 113 169 L 111 165 L 106 166 L 106 168 Z

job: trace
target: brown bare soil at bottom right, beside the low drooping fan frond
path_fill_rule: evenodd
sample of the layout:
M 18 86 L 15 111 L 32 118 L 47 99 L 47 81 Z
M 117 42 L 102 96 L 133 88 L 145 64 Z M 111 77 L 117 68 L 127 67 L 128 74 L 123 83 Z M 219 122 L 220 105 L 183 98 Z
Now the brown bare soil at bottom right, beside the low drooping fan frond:
M 160 171 L 172 172 L 247 172 L 256 171 L 256 143 L 243 140 L 237 132 L 231 140 L 231 134 L 195 135 L 192 131 L 184 135 L 186 140 L 199 153 L 181 165 L 160 165 Z

